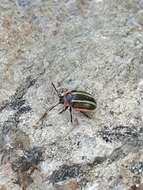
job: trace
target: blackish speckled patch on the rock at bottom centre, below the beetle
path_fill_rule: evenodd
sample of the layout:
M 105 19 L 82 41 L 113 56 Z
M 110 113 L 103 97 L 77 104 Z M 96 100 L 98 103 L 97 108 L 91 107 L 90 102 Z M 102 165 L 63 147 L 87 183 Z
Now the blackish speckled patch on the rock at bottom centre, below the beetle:
M 59 168 L 59 170 L 55 170 L 52 175 L 49 177 L 49 181 L 54 183 L 64 181 L 68 178 L 76 178 L 82 172 L 81 165 L 73 164 L 63 165 Z

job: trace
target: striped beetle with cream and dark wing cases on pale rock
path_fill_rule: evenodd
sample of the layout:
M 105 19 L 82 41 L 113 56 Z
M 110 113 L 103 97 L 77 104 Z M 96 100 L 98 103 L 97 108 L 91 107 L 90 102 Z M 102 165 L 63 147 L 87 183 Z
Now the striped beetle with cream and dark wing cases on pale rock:
M 59 97 L 59 102 L 56 103 L 54 106 L 50 107 L 48 111 L 51 111 L 53 108 L 55 108 L 59 104 L 63 104 L 64 109 L 60 111 L 59 114 L 63 113 L 69 108 L 70 118 L 72 122 L 72 118 L 73 118 L 72 109 L 83 113 L 86 117 L 89 117 L 86 114 L 86 112 L 91 112 L 96 109 L 96 100 L 88 92 L 72 90 L 72 91 L 67 91 L 62 95 L 58 92 L 57 88 L 55 87 L 53 83 L 52 83 L 52 86 L 54 87 Z

